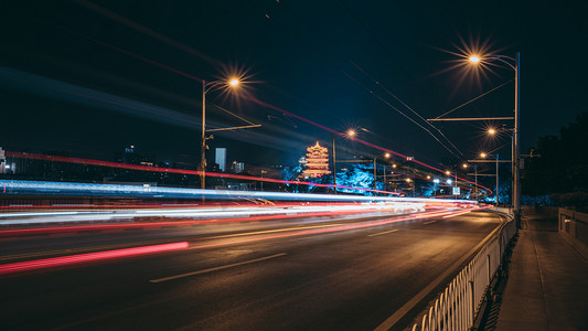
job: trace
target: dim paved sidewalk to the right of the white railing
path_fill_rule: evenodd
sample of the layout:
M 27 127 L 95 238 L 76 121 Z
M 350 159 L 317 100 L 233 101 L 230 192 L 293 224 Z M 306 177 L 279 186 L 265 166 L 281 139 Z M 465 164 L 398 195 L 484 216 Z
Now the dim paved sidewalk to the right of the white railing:
M 588 260 L 557 233 L 557 216 L 523 216 L 494 325 L 485 330 L 588 330 Z

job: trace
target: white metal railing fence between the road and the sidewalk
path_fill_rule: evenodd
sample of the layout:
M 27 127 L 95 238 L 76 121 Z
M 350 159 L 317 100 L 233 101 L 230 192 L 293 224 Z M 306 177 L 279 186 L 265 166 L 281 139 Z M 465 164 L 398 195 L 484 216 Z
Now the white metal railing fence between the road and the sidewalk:
M 510 218 L 435 300 L 413 331 L 471 330 L 509 243 L 516 232 Z

